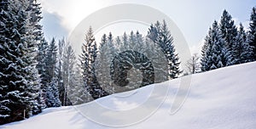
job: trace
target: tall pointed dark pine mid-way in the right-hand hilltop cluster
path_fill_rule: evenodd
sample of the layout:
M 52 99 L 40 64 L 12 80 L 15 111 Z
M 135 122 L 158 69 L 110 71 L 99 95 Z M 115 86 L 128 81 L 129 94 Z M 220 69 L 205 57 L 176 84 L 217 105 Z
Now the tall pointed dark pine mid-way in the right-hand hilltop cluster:
M 228 62 L 225 65 L 236 64 L 236 60 L 233 58 L 233 46 L 236 43 L 237 29 L 234 20 L 232 20 L 232 16 L 224 10 L 220 23 L 219 30 L 221 32 L 222 38 L 224 39 L 225 46 L 227 48 L 229 55 Z

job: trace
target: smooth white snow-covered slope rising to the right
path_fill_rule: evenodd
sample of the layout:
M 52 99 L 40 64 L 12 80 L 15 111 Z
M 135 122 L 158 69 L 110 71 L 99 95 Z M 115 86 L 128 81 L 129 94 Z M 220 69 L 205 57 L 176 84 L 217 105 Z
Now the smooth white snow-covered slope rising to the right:
M 127 93 L 114 94 L 90 104 L 44 109 L 40 115 L 25 121 L 3 125 L 0 128 L 119 128 L 113 127 L 114 125 L 109 126 L 111 122 L 116 121 L 117 125 L 115 126 L 136 129 L 255 129 L 255 76 L 256 62 L 195 74 L 192 76 L 188 98 L 181 109 L 173 115 L 170 114 L 170 108 L 174 100 L 177 99 L 175 96 L 181 79 L 154 84 Z M 165 91 L 169 88 L 167 95 L 165 92 L 161 93 L 163 90 L 160 93 L 154 93 L 156 87 Z M 157 94 L 161 95 L 157 96 Z M 161 99 L 165 97 L 164 103 L 158 107 L 157 100 L 161 102 Z M 147 102 L 149 103 L 147 104 Z M 129 112 L 132 109 L 133 111 Z M 128 114 L 119 115 L 127 110 Z M 139 117 L 144 115 L 143 113 L 148 113 L 147 117 Z M 130 125 L 129 122 L 132 120 L 138 122 L 133 122 Z M 122 126 L 120 123 L 125 123 L 126 126 Z

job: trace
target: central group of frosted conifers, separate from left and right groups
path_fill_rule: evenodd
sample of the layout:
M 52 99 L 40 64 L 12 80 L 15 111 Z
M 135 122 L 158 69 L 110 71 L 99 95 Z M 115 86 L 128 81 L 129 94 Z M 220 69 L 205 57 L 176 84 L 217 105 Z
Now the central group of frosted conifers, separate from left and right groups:
M 157 52 L 156 48 L 159 48 L 160 52 Z M 148 35 L 144 37 L 138 31 L 136 33 L 131 31 L 130 35 L 124 33 L 123 36 L 116 38 L 112 36 L 111 32 L 108 36 L 104 34 L 99 47 L 97 47 L 93 31 L 90 28 L 82 50 L 80 60 L 84 87 L 92 98 L 101 98 L 108 94 L 143 87 L 154 82 L 174 79 L 182 72 L 179 68 L 180 62 L 177 53 L 175 53 L 173 38 L 165 20 L 162 24 L 157 21 L 151 25 Z M 166 59 L 166 69 L 164 70 L 162 70 L 161 62 L 145 59 L 147 57 L 160 59 L 160 56 L 164 56 L 163 58 Z M 143 78 L 143 82 L 139 82 L 136 80 L 138 76 L 128 76 L 126 71 L 133 70 L 131 68 L 138 70 L 133 71 L 138 72 L 133 75 L 139 75 L 139 72 L 142 72 L 143 76 L 150 77 Z M 156 74 L 162 76 L 158 81 L 152 81 Z M 97 78 L 97 76 L 100 77 Z M 127 87 L 118 89 L 119 87 L 112 86 L 111 81 L 119 87 Z M 128 87 L 128 84 L 131 86 Z

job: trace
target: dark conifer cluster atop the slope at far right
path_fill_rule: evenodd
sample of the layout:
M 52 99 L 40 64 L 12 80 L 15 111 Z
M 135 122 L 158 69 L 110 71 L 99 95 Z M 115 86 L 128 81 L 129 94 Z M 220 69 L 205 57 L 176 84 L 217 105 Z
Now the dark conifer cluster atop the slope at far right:
M 202 47 L 201 71 L 214 70 L 233 64 L 256 60 L 256 8 L 253 8 L 248 31 L 236 27 L 231 15 L 224 10 L 219 23 L 210 27 Z

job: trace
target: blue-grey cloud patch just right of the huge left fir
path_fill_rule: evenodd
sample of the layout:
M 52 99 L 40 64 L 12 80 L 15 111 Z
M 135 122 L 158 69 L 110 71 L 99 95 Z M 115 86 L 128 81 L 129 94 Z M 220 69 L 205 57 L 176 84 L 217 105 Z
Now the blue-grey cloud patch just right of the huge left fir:
M 52 37 L 55 37 L 56 39 L 61 39 L 64 36 L 67 37 L 69 31 L 61 24 L 63 23 L 63 19 L 59 14 L 49 13 L 48 11 L 43 10 L 43 17 L 42 25 L 44 37 L 47 40 Z

